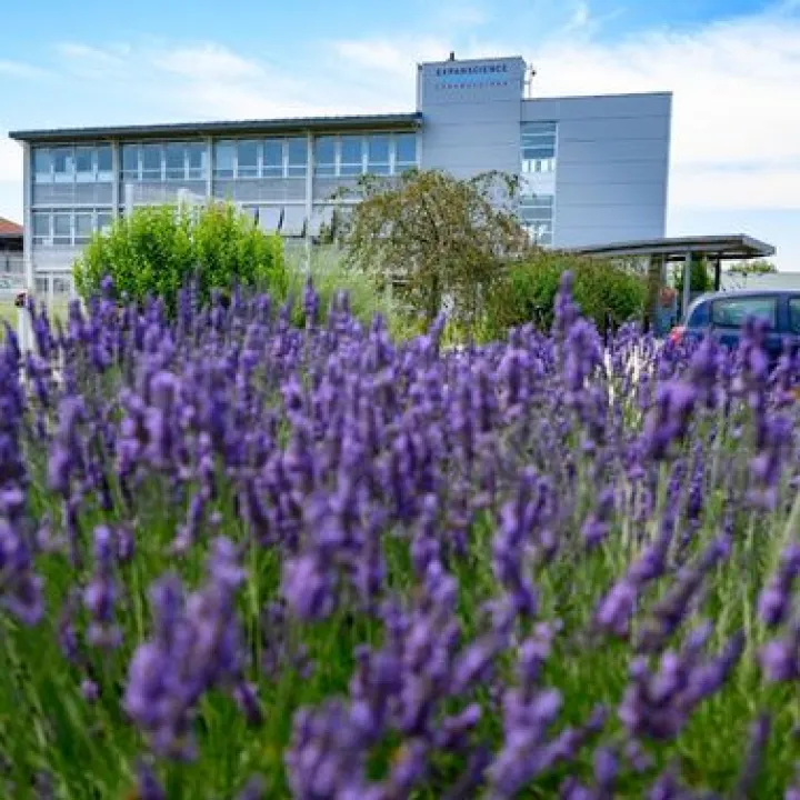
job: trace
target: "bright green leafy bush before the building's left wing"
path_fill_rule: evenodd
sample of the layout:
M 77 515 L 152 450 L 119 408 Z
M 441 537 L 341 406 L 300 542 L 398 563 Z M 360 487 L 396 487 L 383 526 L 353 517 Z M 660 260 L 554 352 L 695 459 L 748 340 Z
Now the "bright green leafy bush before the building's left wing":
M 106 276 L 130 300 L 159 297 L 169 310 L 189 279 L 197 280 L 201 300 L 234 282 L 277 297 L 287 290 L 280 238 L 259 230 L 230 203 L 201 209 L 148 206 L 118 219 L 109 233 L 92 239 L 74 264 L 83 298 L 97 293 Z

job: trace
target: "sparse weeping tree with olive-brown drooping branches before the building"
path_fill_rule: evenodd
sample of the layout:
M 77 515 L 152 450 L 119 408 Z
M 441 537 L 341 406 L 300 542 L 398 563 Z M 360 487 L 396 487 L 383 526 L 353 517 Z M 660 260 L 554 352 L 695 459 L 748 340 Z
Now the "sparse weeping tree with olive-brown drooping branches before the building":
M 347 262 L 393 280 L 397 300 L 431 321 L 480 314 L 502 266 L 531 249 L 516 214 L 517 178 L 486 172 L 459 180 L 439 170 L 363 178 L 341 240 Z

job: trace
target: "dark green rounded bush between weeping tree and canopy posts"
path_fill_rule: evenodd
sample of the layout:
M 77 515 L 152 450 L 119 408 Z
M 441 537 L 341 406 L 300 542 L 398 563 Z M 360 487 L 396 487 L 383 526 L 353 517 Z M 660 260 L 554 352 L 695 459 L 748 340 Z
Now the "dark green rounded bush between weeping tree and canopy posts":
M 601 330 L 607 317 L 619 326 L 641 317 L 647 282 L 636 270 L 559 252 L 539 252 L 509 266 L 489 299 L 482 338 L 499 339 L 513 327 L 532 322 L 548 329 L 561 273 L 574 277 L 574 299 Z

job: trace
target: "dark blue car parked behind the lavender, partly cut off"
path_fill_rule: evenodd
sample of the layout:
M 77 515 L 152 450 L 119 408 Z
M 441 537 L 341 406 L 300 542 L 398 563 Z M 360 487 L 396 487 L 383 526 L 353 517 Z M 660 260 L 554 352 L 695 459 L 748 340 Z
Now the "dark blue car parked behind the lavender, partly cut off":
M 672 329 L 670 340 L 712 336 L 721 344 L 736 348 L 749 317 L 767 324 L 766 348 L 773 363 L 789 343 L 800 342 L 800 292 L 778 289 L 747 289 L 713 292 L 694 300 L 683 323 Z

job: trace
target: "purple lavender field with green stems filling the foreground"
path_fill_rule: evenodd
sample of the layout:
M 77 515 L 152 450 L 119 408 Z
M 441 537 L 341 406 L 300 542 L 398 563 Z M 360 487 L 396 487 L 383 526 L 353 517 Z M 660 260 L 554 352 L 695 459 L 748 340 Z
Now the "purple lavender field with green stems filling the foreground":
M 106 290 L 0 351 L 0 797 L 800 798 L 800 362 L 758 328 L 606 358 L 567 278 L 549 336 L 452 351 Z

